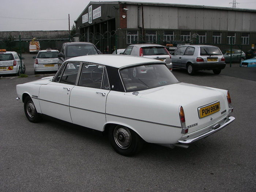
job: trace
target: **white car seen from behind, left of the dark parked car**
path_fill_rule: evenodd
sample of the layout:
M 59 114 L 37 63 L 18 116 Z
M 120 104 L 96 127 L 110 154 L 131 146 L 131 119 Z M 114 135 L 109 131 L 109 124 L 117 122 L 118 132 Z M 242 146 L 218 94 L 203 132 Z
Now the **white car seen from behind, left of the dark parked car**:
M 42 71 L 58 71 L 58 50 L 46 49 L 40 50 L 35 59 L 35 74 Z

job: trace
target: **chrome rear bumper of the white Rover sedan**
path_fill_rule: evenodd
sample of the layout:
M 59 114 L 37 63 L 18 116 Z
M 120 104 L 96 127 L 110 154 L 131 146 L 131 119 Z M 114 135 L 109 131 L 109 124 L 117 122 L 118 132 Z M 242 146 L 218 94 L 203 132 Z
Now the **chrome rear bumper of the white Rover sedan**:
M 219 128 L 216 128 L 216 129 L 212 129 L 211 131 L 207 132 L 207 133 L 204 133 L 203 135 L 199 135 L 195 138 L 191 138 L 191 139 L 185 139 L 185 140 L 178 140 L 179 143 L 181 144 L 190 144 L 190 143 L 193 143 L 199 139 L 203 139 L 203 138 L 206 138 L 208 137 L 209 135 L 221 130 L 222 128 L 226 127 L 226 125 L 230 124 L 232 121 L 234 121 L 236 118 L 232 117 L 232 116 L 229 116 L 229 118 L 226 118 L 222 123 L 220 123 L 220 127 Z

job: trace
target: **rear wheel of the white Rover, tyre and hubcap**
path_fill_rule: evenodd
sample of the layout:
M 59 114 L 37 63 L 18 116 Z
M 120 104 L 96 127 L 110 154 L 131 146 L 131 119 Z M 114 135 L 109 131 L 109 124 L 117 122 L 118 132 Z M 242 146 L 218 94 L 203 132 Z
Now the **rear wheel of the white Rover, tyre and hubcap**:
M 114 125 L 109 129 L 109 140 L 114 150 L 125 156 L 136 154 L 143 147 L 142 138 L 123 125 Z

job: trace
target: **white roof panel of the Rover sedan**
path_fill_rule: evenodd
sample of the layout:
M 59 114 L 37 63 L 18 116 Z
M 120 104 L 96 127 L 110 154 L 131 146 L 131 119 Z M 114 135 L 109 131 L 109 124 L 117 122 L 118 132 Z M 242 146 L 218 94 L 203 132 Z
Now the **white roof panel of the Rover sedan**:
M 79 57 L 72 57 L 67 61 L 79 61 L 79 62 L 89 62 L 95 64 L 106 65 L 110 67 L 122 68 L 135 64 L 144 64 L 144 63 L 163 63 L 164 61 L 159 61 L 156 59 L 150 59 L 146 57 L 137 57 L 130 55 L 120 55 L 120 54 L 96 54 L 96 55 L 86 55 Z

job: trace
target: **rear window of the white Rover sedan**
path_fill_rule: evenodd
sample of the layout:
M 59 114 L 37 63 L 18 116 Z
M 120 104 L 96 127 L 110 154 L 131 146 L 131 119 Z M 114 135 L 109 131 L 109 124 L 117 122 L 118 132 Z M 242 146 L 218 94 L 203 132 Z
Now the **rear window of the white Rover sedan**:
M 120 71 L 126 91 L 140 91 L 178 83 L 164 64 L 148 64 L 125 68 Z

